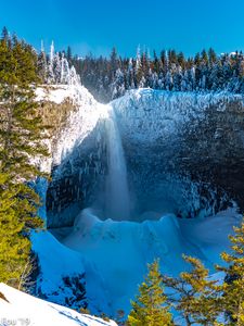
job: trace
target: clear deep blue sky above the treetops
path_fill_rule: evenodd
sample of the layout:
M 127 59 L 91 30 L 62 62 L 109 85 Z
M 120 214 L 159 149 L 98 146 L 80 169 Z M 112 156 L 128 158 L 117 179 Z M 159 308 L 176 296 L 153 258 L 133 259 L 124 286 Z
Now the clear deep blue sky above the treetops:
M 79 55 L 113 46 L 134 55 L 139 43 L 188 55 L 244 50 L 244 0 L 0 0 L 0 23 L 38 49 L 54 40 Z

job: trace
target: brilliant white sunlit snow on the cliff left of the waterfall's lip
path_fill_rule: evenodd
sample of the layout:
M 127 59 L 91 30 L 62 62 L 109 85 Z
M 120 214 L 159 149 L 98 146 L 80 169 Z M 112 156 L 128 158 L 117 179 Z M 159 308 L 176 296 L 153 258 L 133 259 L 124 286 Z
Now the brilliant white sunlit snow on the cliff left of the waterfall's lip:
M 36 96 L 37 101 L 51 101 L 56 104 L 69 100 L 70 105 L 77 108 L 75 112 L 70 113 L 67 127 L 57 140 L 52 158 L 54 165 L 60 164 L 74 147 L 81 143 L 91 134 L 99 122 L 108 116 L 110 106 L 97 102 L 81 85 L 52 85 L 48 88 L 38 88 Z

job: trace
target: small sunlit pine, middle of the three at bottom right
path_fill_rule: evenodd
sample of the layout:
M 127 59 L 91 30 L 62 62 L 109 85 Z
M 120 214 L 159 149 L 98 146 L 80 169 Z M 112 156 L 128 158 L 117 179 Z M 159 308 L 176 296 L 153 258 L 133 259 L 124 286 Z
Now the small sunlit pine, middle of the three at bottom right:
M 167 302 L 181 313 L 188 326 L 218 325 L 221 312 L 221 286 L 209 279 L 208 269 L 200 260 L 183 256 L 191 264 L 191 272 L 183 272 L 179 277 L 163 276 L 163 284 L 175 293 L 167 297 Z

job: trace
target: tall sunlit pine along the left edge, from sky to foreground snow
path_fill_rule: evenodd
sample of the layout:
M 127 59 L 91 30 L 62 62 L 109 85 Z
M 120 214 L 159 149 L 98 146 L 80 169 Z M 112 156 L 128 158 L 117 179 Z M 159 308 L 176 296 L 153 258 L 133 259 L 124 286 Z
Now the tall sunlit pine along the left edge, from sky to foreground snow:
M 39 174 L 30 158 L 47 155 L 35 102 L 37 55 L 13 37 L 0 41 L 0 281 L 24 287 L 30 264 L 31 229 L 39 198 L 29 181 Z

